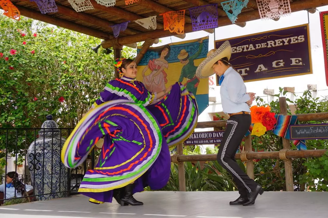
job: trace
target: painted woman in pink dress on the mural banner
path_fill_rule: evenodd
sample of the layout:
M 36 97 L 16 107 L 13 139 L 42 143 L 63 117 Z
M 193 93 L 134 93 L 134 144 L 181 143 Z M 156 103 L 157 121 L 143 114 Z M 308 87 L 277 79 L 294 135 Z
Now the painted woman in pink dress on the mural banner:
M 160 92 L 165 90 L 165 84 L 167 83 L 167 74 L 164 69 L 169 68 L 167 59 L 170 56 L 171 47 L 164 45 L 158 51 L 159 58 L 149 60 L 148 65 L 142 71 L 143 83 L 150 92 Z M 148 76 L 145 76 L 145 72 L 150 69 L 152 72 Z

